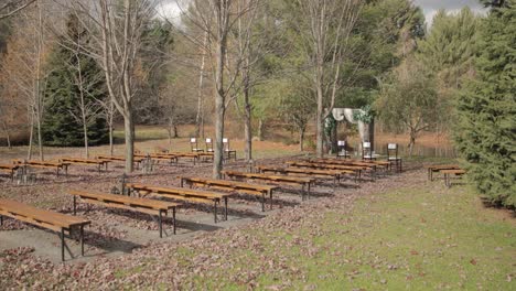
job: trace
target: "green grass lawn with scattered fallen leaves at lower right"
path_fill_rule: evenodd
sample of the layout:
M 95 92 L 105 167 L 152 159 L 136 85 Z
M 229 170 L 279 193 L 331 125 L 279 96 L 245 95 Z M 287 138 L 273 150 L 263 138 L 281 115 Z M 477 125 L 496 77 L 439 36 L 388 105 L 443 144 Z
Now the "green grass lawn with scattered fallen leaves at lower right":
M 241 289 L 236 273 L 266 259 L 260 288 L 516 290 L 514 218 L 484 208 L 467 186 L 441 184 L 358 198 L 350 215 L 327 211 L 315 230 L 248 230 L 266 255 L 235 249 L 229 268 L 194 284 Z

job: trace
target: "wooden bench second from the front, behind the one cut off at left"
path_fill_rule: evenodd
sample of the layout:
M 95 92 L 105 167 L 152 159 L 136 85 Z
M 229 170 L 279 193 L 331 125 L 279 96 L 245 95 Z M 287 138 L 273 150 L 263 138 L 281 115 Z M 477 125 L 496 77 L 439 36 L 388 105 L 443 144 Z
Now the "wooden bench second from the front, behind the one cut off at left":
M 169 211 L 172 209 L 172 223 L 174 224 L 175 235 L 175 208 L 181 204 L 78 190 L 72 190 L 68 194 L 74 196 L 74 215 L 77 213 L 77 197 L 79 197 L 84 203 L 157 215 L 159 218 L 158 224 L 160 226 L 160 237 L 163 237 L 163 215 L 166 216 Z

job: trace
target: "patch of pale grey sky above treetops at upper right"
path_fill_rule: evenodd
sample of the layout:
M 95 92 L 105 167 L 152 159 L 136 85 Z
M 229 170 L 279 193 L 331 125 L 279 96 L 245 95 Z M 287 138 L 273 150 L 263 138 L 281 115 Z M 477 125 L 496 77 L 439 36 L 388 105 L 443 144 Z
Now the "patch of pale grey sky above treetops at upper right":
M 436 15 L 439 9 L 456 13 L 462 8 L 470 7 L 475 13 L 486 12 L 484 7 L 479 3 L 479 0 L 413 0 L 413 3 L 423 10 L 428 26 L 431 25 L 433 15 Z

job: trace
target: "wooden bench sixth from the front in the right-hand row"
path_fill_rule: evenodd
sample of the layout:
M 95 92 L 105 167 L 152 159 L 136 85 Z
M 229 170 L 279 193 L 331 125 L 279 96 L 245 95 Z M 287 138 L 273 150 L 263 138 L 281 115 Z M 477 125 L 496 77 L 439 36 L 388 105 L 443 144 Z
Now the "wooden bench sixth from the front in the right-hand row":
M 351 170 L 318 170 L 318 169 L 302 169 L 302 168 L 279 168 L 279 166 L 264 166 L 259 165 L 256 169 L 260 173 L 275 173 L 294 176 L 314 176 L 314 177 L 331 177 L 333 184 L 340 183 L 344 174 L 353 174 L 355 182 L 357 181 L 357 172 Z

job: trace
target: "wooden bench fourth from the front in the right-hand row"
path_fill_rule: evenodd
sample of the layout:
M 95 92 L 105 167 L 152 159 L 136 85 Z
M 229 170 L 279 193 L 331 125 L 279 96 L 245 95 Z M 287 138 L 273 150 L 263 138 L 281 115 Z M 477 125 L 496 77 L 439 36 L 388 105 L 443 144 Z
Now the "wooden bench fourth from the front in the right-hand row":
M 278 190 L 277 186 L 270 185 L 255 185 L 243 182 L 227 181 L 227 180 L 211 180 L 202 177 L 181 177 L 181 187 L 184 184 L 200 187 L 209 187 L 222 191 L 239 192 L 250 195 L 261 196 L 261 211 L 265 212 L 266 196 L 270 198 L 270 208 L 272 209 L 272 192 Z

